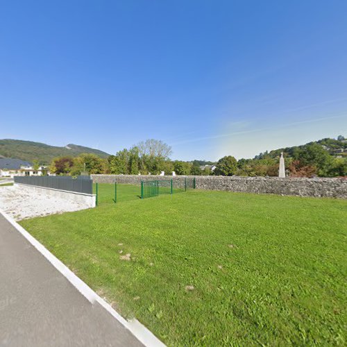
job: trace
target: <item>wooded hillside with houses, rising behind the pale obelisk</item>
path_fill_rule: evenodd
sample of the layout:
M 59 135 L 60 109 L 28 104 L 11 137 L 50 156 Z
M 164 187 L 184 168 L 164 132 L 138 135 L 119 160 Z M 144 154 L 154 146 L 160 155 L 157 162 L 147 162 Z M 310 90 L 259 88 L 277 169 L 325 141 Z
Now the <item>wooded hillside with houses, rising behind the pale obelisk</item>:
M 299 157 L 299 154 L 314 150 L 314 148 L 323 149 L 326 153 L 334 156 L 347 156 L 347 139 L 341 135 L 337 139 L 319 139 L 318 141 L 309 142 L 301 146 L 286 147 L 282 149 L 274 149 L 273 151 L 265 151 L 259 155 L 255 155 L 254 159 L 278 158 L 281 152 L 290 158 Z

